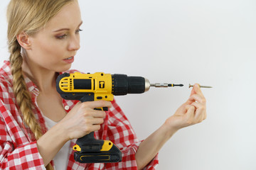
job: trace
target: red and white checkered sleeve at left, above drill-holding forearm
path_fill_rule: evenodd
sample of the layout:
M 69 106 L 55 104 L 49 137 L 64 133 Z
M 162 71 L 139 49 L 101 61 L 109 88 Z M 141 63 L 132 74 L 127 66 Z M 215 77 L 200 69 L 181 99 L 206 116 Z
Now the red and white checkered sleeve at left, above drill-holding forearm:
M 10 86 L 0 81 L 0 169 L 45 169 L 36 142 L 21 130 Z

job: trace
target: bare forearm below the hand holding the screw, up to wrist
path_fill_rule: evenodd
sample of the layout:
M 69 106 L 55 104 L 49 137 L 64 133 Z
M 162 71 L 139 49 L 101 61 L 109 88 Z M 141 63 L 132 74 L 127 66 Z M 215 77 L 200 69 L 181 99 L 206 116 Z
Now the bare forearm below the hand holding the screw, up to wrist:
M 164 124 L 149 137 L 146 138 L 140 145 L 135 154 L 137 168 L 143 169 L 149 164 L 159 152 L 161 147 L 171 138 L 177 130 L 169 129 Z

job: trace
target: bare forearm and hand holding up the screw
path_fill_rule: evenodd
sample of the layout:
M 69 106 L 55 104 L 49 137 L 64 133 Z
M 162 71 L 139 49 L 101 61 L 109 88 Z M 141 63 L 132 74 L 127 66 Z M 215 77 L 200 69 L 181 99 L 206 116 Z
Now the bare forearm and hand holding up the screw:
M 164 125 L 146 138 L 135 154 L 138 169 L 143 169 L 146 164 L 156 156 L 164 143 L 170 139 L 174 133 L 189 125 L 201 123 L 206 119 L 206 98 L 198 84 L 193 86 L 188 101 L 183 103 Z

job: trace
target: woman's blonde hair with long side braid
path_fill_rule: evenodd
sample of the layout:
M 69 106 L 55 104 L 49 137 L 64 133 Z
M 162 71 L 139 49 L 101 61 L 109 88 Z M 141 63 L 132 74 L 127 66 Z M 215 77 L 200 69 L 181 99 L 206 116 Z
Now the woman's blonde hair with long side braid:
M 28 125 L 36 140 L 42 135 L 41 126 L 32 112 L 31 95 L 27 90 L 22 73 L 21 45 L 16 36 L 24 32 L 33 35 L 41 30 L 46 23 L 53 18 L 63 6 L 75 0 L 11 0 L 7 8 L 8 41 L 11 74 L 13 75 L 13 89 L 16 101 L 21 110 L 23 122 Z M 51 164 L 47 169 L 53 169 Z

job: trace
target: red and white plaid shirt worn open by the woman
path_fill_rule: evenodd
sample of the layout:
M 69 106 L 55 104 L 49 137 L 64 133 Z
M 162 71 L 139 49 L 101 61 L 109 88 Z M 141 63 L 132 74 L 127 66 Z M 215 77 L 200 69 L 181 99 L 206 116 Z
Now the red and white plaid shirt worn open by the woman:
M 71 70 L 69 72 L 76 71 Z M 45 169 L 35 137 L 31 130 L 23 124 L 21 113 L 18 110 L 12 89 L 11 67 L 8 61 L 4 62 L 0 74 L 0 169 Z M 43 113 L 36 104 L 36 96 L 38 96 L 39 90 L 28 77 L 25 77 L 25 79 L 28 91 L 31 92 L 32 96 L 33 113 L 35 113 L 45 133 L 47 128 Z M 63 107 L 69 112 L 77 102 L 63 99 Z M 107 164 L 80 164 L 75 162 L 72 149 L 75 140 L 72 140 L 67 169 L 137 169 L 135 153 L 142 141 L 137 140 L 129 120 L 115 101 L 112 101 L 112 106 L 110 111 L 107 111 L 101 129 L 95 132 L 95 138 L 111 140 L 117 145 L 122 151 L 122 162 Z M 158 163 L 158 155 L 156 155 L 144 169 L 155 169 Z

